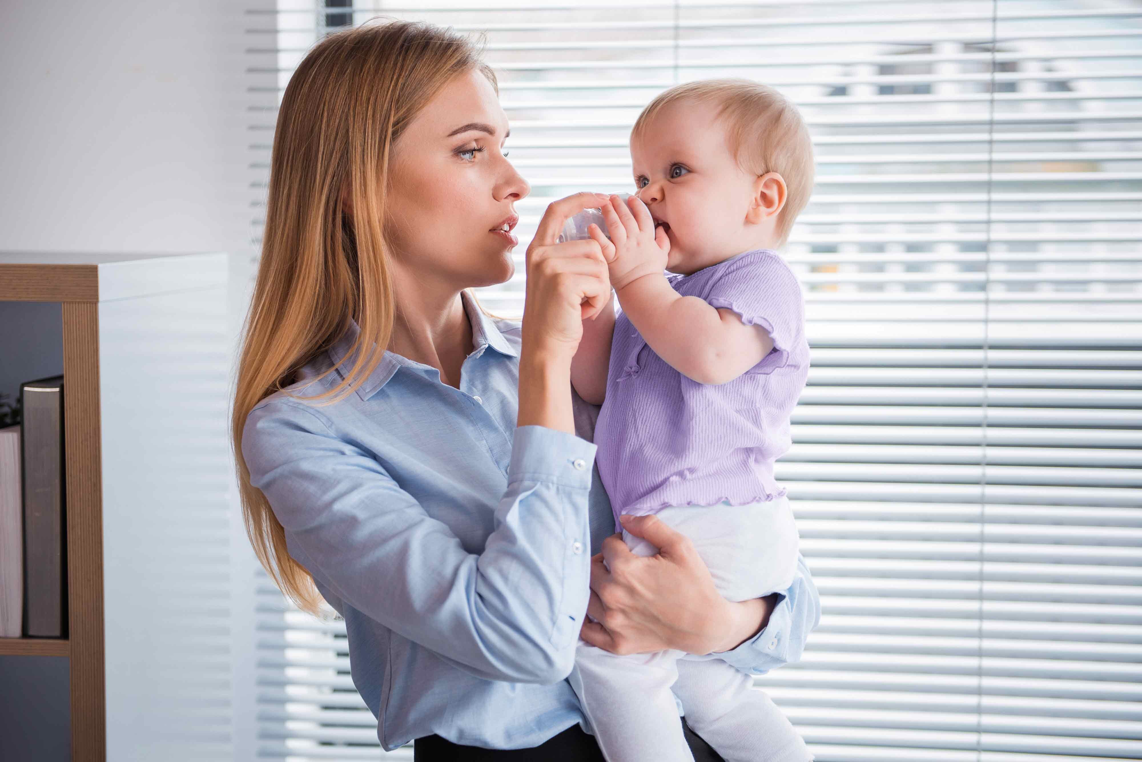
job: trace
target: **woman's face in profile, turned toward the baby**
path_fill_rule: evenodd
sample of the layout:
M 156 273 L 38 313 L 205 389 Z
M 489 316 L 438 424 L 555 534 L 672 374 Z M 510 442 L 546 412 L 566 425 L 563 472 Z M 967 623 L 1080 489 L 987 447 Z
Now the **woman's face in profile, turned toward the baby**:
M 531 192 L 502 153 L 507 115 L 478 71 L 457 75 L 409 124 L 394 146 L 389 240 L 399 268 L 449 289 L 512 277 L 514 205 Z

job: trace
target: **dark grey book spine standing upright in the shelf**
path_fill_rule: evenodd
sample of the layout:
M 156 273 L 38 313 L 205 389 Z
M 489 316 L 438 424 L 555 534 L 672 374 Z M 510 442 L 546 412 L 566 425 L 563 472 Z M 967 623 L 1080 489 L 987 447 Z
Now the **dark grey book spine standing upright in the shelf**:
M 24 471 L 24 635 L 67 637 L 64 378 L 21 384 Z

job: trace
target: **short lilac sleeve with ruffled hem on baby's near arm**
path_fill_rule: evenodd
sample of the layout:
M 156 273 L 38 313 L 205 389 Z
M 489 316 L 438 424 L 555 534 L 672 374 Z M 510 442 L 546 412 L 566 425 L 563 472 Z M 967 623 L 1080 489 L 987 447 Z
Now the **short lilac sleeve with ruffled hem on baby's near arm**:
M 805 340 L 805 299 L 789 266 L 774 253 L 738 257 L 711 279 L 706 302 L 732 309 L 746 325 L 761 325 L 773 340 L 773 349 L 754 366 L 755 373 L 772 373 L 789 362 L 789 350 Z

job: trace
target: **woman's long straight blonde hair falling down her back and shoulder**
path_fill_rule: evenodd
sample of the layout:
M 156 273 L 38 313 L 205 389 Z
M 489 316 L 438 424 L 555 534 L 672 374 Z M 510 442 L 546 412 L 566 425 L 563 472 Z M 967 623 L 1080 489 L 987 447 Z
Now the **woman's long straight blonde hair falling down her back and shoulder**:
M 313 577 L 290 557 L 281 522 L 250 485 L 242 457 L 246 419 L 343 338 L 351 319 L 361 327 L 347 355 L 356 356 L 352 371 L 306 403 L 340 402 L 377 367 L 395 314 L 384 230 L 393 145 L 458 74 L 477 70 L 499 94 L 496 74 L 468 38 L 424 22 L 372 21 L 378 19 L 317 42 L 282 97 L 262 260 L 242 331 L 231 418 L 247 535 L 281 591 L 315 616 L 323 611 Z M 359 351 L 371 346 L 376 349 Z

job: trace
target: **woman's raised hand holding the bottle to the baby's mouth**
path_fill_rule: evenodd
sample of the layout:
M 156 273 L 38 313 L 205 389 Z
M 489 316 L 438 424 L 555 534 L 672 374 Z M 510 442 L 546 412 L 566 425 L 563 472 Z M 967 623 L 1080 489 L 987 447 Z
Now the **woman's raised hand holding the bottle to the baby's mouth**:
M 577 193 L 552 202 L 528 245 L 522 344 L 566 362 L 582 338 L 582 321 L 610 302 L 611 281 L 598 242 L 556 243 L 572 214 L 609 203 L 605 194 Z

